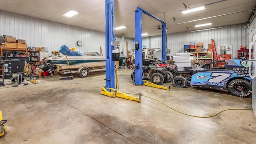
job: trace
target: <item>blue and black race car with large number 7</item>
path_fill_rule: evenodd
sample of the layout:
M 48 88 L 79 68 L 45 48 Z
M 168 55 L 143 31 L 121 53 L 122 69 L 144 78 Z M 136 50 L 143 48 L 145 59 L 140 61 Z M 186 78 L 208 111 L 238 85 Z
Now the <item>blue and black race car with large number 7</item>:
M 217 64 L 218 63 L 218 64 Z M 212 67 L 215 64 L 221 67 Z M 200 86 L 228 90 L 234 96 L 252 95 L 252 78 L 249 76 L 249 61 L 229 59 L 210 62 L 191 70 L 176 72 L 172 84 L 177 88 Z

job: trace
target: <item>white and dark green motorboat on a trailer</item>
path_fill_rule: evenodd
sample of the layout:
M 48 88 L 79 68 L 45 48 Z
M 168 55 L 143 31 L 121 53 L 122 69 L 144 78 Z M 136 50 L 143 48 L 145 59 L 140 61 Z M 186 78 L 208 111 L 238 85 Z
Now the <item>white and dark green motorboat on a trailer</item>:
M 55 65 L 59 72 L 70 73 L 71 69 L 72 73 L 77 72 L 81 77 L 86 77 L 89 72 L 106 70 L 106 58 L 98 52 L 85 52 L 83 56 L 51 56 L 46 60 Z

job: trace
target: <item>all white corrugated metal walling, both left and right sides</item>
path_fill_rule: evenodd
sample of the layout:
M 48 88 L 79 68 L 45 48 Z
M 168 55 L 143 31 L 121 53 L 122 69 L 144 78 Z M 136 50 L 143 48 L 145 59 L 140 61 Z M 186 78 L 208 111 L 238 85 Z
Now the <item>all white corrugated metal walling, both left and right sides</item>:
M 236 57 L 236 50 L 238 50 L 239 46 L 247 45 L 247 42 L 252 39 L 252 34 L 256 32 L 255 26 L 256 20 L 250 26 L 248 39 L 247 28 L 244 28 L 242 25 L 199 32 L 168 34 L 167 47 L 171 49 L 172 56 L 174 56 L 176 52 L 183 52 L 183 45 L 190 44 L 190 42 L 204 42 L 204 45 L 207 46 L 207 44 L 211 43 L 211 39 L 214 39 L 215 45 L 233 45 L 234 50 L 232 51 L 232 56 Z M 51 51 L 58 50 L 63 44 L 68 47 L 76 47 L 84 52 L 100 52 L 100 46 L 102 46 L 103 53 L 105 54 L 104 32 L 97 32 L 4 11 L 0 11 L 0 34 L 11 35 L 17 39 L 25 39 L 28 46 L 31 47 L 45 47 L 49 51 L 49 54 Z M 116 38 L 121 42 L 120 51 L 122 51 L 122 36 L 116 36 Z M 83 42 L 81 47 L 76 45 L 78 40 Z M 133 38 L 124 37 L 125 55 L 126 41 L 128 41 L 129 50 L 134 49 L 135 44 Z M 142 44 L 146 47 L 159 49 L 161 48 L 161 36 L 143 38 Z M 160 58 L 161 54 L 158 53 L 154 56 Z

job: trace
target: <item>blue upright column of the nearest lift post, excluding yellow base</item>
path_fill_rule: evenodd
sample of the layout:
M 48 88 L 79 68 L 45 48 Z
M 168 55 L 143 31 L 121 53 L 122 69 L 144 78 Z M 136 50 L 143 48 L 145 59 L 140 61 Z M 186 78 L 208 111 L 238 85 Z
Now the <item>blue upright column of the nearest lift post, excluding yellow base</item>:
M 114 61 L 112 60 L 112 50 L 114 46 L 114 0 L 105 0 L 105 34 L 106 34 L 106 90 L 115 87 Z

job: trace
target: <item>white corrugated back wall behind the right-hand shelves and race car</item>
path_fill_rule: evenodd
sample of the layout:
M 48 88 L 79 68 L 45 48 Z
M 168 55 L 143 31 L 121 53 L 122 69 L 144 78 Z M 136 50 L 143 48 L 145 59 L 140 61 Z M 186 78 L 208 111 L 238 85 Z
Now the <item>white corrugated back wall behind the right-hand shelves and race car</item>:
M 171 50 L 172 56 L 175 56 L 175 53 L 183 52 L 183 46 L 190 45 L 190 42 L 204 42 L 204 47 L 208 48 L 211 39 L 214 39 L 216 46 L 232 45 L 232 57 L 234 58 L 237 56 L 238 48 L 241 45 L 246 46 L 246 38 L 247 28 L 242 25 L 198 32 L 180 32 L 167 35 L 167 48 Z M 149 42 L 149 38 L 143 38 L 142 42 Z M 161 48 L 161 36 L 152 36 L 150 43 L 150 48 Z M 161 55 L 158 55 L 161 58 Z

